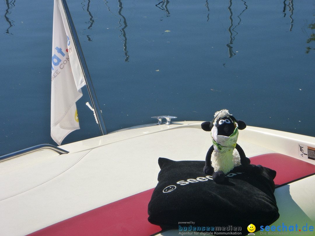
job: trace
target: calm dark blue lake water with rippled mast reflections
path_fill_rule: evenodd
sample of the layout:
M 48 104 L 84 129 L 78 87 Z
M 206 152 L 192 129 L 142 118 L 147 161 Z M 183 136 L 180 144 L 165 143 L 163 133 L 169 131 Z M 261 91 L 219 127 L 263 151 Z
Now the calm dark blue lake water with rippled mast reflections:
M 226 108 L 250 126 L 315 136 L 313 0 L 67 1 L 108 132 L 212 120 Z M 53 1 L 0 5 L 0 155 L 50 137 Z M 81 129 L 100 135 L 77 102 Z

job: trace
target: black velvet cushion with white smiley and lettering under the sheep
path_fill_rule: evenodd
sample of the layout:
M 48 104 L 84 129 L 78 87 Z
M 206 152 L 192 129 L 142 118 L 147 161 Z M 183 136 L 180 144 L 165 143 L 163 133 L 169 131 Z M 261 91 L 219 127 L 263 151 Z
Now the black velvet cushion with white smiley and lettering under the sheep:
M 179 230 L 248 234 L 249 224 L 258 231 L 279 217 L 273 194 L 274 170 L 263 167 L 263 173 L 256 175 L 234 167 L 226 181 L 218 184 L 203 173 L 204 161 L 159 158 L 158 164 L 158 184 L 148 205 L 152 224 Z

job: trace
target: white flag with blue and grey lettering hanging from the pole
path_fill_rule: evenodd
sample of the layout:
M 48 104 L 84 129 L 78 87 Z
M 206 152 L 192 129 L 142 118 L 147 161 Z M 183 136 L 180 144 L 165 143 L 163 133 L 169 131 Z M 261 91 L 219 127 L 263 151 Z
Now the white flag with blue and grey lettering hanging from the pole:
M 82 68 L 60 0 L 54 0 L 51 67 L 51 137 L 58 145 L 79 129 L 76 101 L 85 85 Z

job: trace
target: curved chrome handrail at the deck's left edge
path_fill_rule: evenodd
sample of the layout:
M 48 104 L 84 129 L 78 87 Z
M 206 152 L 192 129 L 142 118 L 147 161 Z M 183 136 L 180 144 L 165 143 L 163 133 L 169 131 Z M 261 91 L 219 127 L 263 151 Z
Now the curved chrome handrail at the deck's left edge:
M 40 144 L 40 145 L 36 145 L 36 146 L 30 147 L 30 148 L 26 148 L 26 149 L 23 149 L 23 150 L 20 150 L 20 151 L 9 153 L 7 155 L 0 156 L 0 162 L 5 161 L 5 160 L 10 160 L 12 158 L 19 157 L 21 155 L 26 155 L 26 154 L 29 154 L 29 153 L 32 153 L 32 152 L 41 151 L 43 149 L 53 150 L 53 151 L 57 152 L 59 155 L 69 153 L 68 151 L 66 151 L 64 149 L 58 148 L 58 147 L 56 147 L 54 145 L 51 145 L 51 144 Z

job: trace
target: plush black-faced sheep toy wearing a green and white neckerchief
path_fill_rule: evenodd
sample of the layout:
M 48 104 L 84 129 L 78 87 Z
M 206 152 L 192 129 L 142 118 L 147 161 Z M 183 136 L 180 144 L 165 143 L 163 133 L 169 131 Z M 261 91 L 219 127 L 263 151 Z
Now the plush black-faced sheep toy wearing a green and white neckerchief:
M 216 183 L 222 183 L 225 175 L 235 166 L 249 166 L 249 158 L 237 144 L 238 130 L 246 128 L 244 121 L 236 120 L 228 110 L 223 109 L 215 112 L 215 118 L 211 122 L 203 122 L 201 127 L 204 131 L 211 131 L 213 143 L 207 152 L 203 172 L 212 175 Z M 262 167 L 257 165 L 252 171 L 256 170 L 261 173 Z

